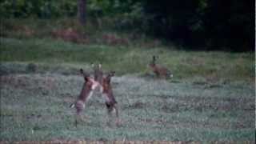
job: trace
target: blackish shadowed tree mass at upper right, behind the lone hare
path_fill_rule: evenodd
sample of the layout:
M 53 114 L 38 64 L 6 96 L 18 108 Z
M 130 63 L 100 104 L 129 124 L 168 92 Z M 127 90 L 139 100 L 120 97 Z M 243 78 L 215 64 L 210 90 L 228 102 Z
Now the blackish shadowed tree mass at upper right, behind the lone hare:
M 157 36 L 192 49 L 254 50 L 253 0 L 146 0 L 143 6 Z

